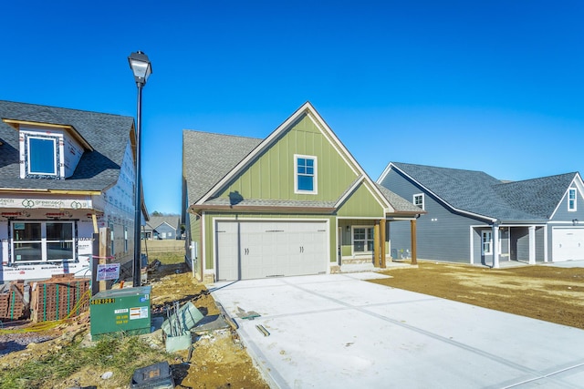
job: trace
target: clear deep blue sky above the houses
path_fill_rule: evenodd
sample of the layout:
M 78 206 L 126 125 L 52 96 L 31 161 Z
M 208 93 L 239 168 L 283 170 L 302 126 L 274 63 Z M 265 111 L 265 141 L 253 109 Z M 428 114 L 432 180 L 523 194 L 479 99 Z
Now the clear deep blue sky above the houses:
M 139 10 L 132 5 L 141 5 Z M 581 1 L 20 1 L 0 99 L 136 115 L 150 211 L 179 212 L 183 129 L 265 138 L 309 100 L 372 179 L 584 172 Z

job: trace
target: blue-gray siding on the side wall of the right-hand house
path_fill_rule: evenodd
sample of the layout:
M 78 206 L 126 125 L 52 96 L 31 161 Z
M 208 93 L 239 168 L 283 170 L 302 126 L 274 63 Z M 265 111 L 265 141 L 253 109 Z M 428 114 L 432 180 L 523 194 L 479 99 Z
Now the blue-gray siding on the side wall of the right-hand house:
M 417 254 L 421 260 L 470 262 L 470 226 L 484 224 L 484 221 L 474 220 L 452 212 L 442 203 L 424 192 L 422 188 L 410 179 L 391 170 L 381 185 L 400 195 L 405 200 L 413 201 L 413 195 L 424 193 L 424 210 L 417 221 Z M 410 224 L 404 222 L 390 223 L 391 253 L 400 249 L 410 249 Z M 480 258 L 480 233 L 474 237 L 475 246 L 478 242 Z

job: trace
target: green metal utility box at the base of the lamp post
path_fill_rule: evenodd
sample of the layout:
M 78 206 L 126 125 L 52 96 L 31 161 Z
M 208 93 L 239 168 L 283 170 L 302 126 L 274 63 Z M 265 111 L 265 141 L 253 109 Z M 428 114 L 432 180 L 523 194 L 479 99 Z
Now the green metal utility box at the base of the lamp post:
M 108 333 L 151 332 L 151 287 L 99 292 L 89 302 L 91 339 Z

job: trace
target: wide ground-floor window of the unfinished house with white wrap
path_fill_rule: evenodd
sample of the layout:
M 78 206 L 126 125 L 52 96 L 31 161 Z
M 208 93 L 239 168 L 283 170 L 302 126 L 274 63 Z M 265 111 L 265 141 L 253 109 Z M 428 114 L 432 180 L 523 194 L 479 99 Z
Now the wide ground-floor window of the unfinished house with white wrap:
M 16 262 L 69 261 L 75 258 L 71 221 L 16 221 L 12 252 Z

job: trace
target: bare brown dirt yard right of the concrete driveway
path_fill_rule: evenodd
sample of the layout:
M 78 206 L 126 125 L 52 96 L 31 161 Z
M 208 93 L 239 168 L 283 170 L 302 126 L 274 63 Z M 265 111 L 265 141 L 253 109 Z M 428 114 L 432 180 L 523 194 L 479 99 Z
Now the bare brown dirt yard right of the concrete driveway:
M 419 261 L 372 282 L 584 329 L 584 269 L 521 266 L 489 269 Z

